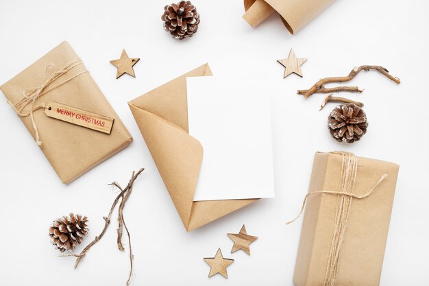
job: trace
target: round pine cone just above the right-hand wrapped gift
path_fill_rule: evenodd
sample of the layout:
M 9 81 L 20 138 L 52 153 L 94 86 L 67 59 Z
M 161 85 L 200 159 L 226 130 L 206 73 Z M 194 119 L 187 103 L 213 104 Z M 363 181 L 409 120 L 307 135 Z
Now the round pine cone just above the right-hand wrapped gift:
M 328 117 L 328 128 L 336 141 L 353 143 L 367 132 L 365 111 L 355 104 L 336 106 Z

